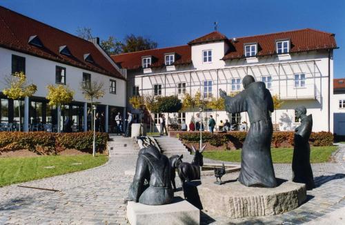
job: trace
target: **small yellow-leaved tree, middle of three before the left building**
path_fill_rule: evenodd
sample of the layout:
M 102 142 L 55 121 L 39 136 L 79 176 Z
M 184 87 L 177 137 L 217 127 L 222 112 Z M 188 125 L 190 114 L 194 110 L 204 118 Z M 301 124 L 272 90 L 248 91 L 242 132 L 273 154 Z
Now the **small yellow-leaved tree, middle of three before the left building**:
M 58 108 L 57 111 L 57 132 L 61 132 L 60 130 L 60 115 L 61 115 L 61 105 L 68 104 L 73 100 L 73 95 L 75 92 L 73 90 L 70 90 L 68 86 L 64 86 L 62 84 L 58 84 L 57 86 L 54 86 L 52 84 L 49 84 L 47 86 L 48 94 L 46 96 L 46 99 L 49 100 L 50 106 L 56 106 Z

